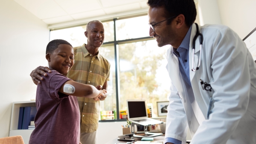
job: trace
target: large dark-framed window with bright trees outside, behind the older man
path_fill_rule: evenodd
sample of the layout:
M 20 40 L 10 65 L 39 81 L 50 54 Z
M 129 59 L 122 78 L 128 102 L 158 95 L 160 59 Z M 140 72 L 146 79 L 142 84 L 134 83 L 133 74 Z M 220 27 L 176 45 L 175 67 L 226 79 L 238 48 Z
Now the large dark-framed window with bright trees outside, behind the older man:
M 113 19 L 103 22 L 105 40 L 99 52 L 111 63 L 108 97 L 100 101 L 101 111 L 126 110 L 126 100 L 145 99 L 153 104 L 157 116 L 157 101 L 168 101 L 170 80 L 166 70 L 166 51 L 148 36 L 148 16 Z M 114 27 L 116 26 L 116 27 Z M 87 43 L 86 25 L 52 30 L 50 40 L 64 39 L 72 46 Z M 110 118 L 111 119 L 111 118 Z M 107 121 L 107 120 L 106 120 Z M 124 120 L 125 121 L 125 120 Z

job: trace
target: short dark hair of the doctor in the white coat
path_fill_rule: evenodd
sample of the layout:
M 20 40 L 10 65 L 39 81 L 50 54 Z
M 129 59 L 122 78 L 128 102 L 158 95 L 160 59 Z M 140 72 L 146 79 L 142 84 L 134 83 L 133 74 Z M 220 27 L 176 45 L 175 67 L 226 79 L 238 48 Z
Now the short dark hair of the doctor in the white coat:
M 183 14 L 187 26 L 191 26 L 195 22 L 196 8 L 194 0 L 148 0 L 147 4 L 152 8 L 164 6 L 166 18 Z M 173 19 L 167 20 L 167 24 L 169 25 Z

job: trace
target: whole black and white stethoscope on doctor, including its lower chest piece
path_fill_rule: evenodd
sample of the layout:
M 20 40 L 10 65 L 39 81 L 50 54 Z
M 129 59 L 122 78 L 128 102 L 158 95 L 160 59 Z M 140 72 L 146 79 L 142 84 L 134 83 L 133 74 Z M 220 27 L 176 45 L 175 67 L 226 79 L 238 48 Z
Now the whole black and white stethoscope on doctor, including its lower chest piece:
M 193 49 L 193 56 L 192 56 L 192 71 L 196 71 L 199 69 L 200 62 L 201 62 L 201 51 L 202 51 L 202 44 L 204 37 L 203 35 L 199 32 L 198 24 L 195 23 L 196 26 L 196 34 L 195 37 L 193 38 L 193 43 L 192 43 L 192 49 Z M 200 37 L 199 37 L 200 36 Z M 200 43 L 200 55 L 199 55 L 199 60 L 198 60 L 198 66 L 194 69 L 194 55 L 195 55 L 195 40 L 199 37 L 199 43 Z M 212 109 L 212 103 L 213 103 L 213 98 L 212 98 L 212 86 L 210 84 L 207 84 L 207 82 L 204 82 L 203 80 L 200 79 L 201 86 L 204 90 L 209 91 L 210 93 L 210 100 L 209 100 L 209 107 L 207 110 L 207 119 L 209 119 L 209 115 L 211 113 Z

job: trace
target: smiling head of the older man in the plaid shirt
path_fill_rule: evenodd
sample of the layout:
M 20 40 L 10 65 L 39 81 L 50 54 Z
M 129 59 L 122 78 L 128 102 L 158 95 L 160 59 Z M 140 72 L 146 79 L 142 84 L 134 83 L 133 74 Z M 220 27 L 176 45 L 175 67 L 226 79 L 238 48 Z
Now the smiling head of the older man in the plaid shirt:
M 104 27 L 102 23 L 91 23 L 88 30 L 85 32 L 87 37 L 87 45 L 100 47 L 104 42 Z

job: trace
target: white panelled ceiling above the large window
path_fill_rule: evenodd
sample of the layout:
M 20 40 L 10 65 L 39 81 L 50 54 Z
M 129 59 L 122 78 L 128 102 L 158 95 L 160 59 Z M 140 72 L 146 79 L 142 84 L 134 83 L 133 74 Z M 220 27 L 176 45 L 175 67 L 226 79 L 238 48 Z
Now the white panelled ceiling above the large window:
M 146 11 L 147 0 L 14 0 L 48 25 Z

